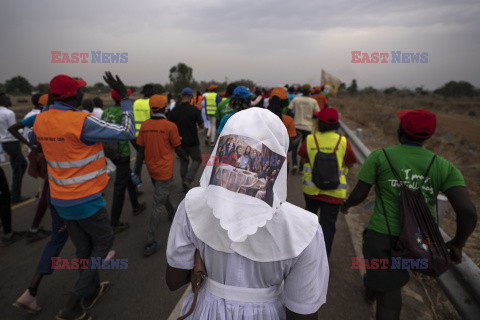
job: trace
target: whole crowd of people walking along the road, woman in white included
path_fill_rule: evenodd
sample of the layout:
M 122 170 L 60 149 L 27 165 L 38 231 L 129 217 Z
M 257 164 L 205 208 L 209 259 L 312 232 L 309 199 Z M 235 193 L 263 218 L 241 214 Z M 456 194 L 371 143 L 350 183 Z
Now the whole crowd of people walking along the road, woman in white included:
M 430 179 L 420 191 L 430 210 L 439 192 L 451 202 L 457 232 L 447 245 L 451 260 L 461 261 L 476 211 L 460 171 L 439 156 L 431 161 L 433 153 L 423 147 L 436 129 L 433 113 L 399 112 L 400 144 L 372 152 L 347 197 L 346 177 L 358 161 L 348 138 L 338 133 L 339 115 L 324 87 L 265 89 L 231 83 L 223 94 L 211 85 L 203 95 L 184 88 L 173 99 L 147 84 L 143 97 L 132 103 L 131 90 L 118 76 L 107 72 L 103 78 L 114 104 L 105 110 L 100 98 L 83 99 L 85 81 L 66 75 L 51 80 L 48 94 L 32 97 L 34 109 L 20 122 L 10 98 L 0 94 L 0 139 L 12 167 L 11 188 L 0 167 L 2 245 L 24 236 L 31 242 L 51 236 L 15 306 L 41 311 L 36 301 L 40 282 L 53 272 L 51 258 L 61 254 L 69 237 L 80 259 L 114 257 L 114 234 L 129 228 L 121 221 L 125 192 L 133 215 L 146 209 L 137 181 L 144 163 L 154 187 L 144 256 L 162 246 L 156 233 L 167 215 L 172 221 L 166 248 L 168 287 L 182 287 L 199 270 L 208 274 L 198 298 L 192 291 L 184 301 L 182 314 L 194 307 L 189 319 L 316 319 L 326 302 L 338 214 L 363 202 L 373 186 L 377 200 L 363 252 L 368 259 L 391 258 L 392 239 L 398 239 L 401 229 L 399 186 L 390 183 L 396 179 L 389 170 L 392 163 L 406 180 L 431 165 Z M 213 161 L 194 187 L 202 161 L 198 130 L 204 128 Z M 20 143 L 30 148 L 29 164 Z M 169 199 L 175 154 L 186 193 L 178 206 Z M 107 158 L 116 167 L 110 216 L 103 198 Z M 11 205 L 26 200 L 21 191 L 27 166 L 30 175 L 43 179 L 43 188 L 25 233 L 12 230 Z M 287 177 L 298 173 L 305 209 L 286 201 Z M 334 180 L 319 182 L 319 174 Z M 48 207 L 51 231 L 40 227 Z M 408 280 L 407 270 L 367 270 L 366 295 L 377 301 L 377 319 L 399 318 L 400 289 Z M 81 270 L 57 319 L 90 319 L 88 310 L 109 287 L 108 281 L 100 282 L 98 270 Z

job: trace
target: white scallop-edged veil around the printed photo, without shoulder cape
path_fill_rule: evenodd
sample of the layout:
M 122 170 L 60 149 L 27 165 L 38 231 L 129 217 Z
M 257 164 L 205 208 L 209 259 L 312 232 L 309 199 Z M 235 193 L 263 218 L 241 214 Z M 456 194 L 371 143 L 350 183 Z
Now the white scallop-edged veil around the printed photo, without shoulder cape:
M 288 133 L 280 118 L 262 108 L 250 108 L 235 113 L 228 119 L 222 134 L 210 156 L 213 163 L 219 141 L 223 136 L 238 135 L 251 138 L 286 159 L 288 152 Z M 234 242 L 245 241 L 259 227 L 272 219 L 275 211 L 287 198 L 287 162 L 282 167 L 273 185 L 273 204 L 255 197 L 240 194 L 218 185 L 209 184 L 213 166 L 207 166 L 200 179 L 200 186 L 206 189 L 207 203 L 220 225 L 228 231 L 228 237 Z

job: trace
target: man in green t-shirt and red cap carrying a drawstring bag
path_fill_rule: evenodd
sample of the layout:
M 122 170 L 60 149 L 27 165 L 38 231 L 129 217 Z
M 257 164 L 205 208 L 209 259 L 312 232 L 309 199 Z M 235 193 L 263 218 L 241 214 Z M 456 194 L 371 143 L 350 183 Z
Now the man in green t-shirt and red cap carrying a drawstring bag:
M 435 132 L 436 116 L 427 110 L 401 110 L 397 115 L 400 118 L 398 139 L 401 144 L 385 148 L 385 152 L 402 182 L 409 189 L 418 190 L 434 156 L 422 145 Z M 341 210 L 348 213 L 348 208 L 363 202 L 372 186 L 375 186 L 375 209 L 364 233 L 363 255 L 368 260 L 377 258 L 391 261 L 391 243 L 396 243 L 400 235 L 400 184 L 381 149 L 370 154 L 357 177 L 359 181 Z M 452 204 L 457 218 L 457 232 L 447 247 L 452 262 L 460 263 L 462 248 L 477 221 L 475 206 L 470 200 L 462 174 L 451 162 L 437 156 L 421 189 L 434 216 L 433 206 L 439 192 L 443 192 Z M 408 270 L 405 269 L 367 269 L 364 284 L 367 298 L 377 300 L 377 319 L 399 318 L 402 307 L 400 289 L 408 280 Z

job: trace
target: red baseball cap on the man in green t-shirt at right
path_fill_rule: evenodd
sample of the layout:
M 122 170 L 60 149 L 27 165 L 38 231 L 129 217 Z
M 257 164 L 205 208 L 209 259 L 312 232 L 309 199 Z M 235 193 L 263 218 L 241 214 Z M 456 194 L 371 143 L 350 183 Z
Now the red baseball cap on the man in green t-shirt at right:
M 400 110 L 397 112 L 403 130 L 415 138 L 430 138 L 437 128 L 437 117 L 428 110 Z

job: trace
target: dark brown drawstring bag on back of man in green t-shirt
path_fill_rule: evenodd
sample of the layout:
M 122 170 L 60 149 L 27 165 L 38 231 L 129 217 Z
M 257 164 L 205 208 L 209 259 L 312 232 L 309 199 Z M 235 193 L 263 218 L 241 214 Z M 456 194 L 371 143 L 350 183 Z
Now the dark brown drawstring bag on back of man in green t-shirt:
M 418 189 L 412 191 L 393 168 L 385 150 L 382 150 L 395 178 L 400 184 L 399 216 L 401 230 L 397 243 L 392 243 L 392 257 L 399 257 L 401 258 L 400 260 L 413 259 L 411 261 L 415 261 L 415 263 L 420 261 L 416 268 L 413 268 L 413 265 L 411 265 L 412 271 L 438 277 L 450 267 L 450 254 L 421 191 L 436 156 L 433 156 Z M 392 240 L 385 205 L 380 190 L 377 191 L 383 206 L 390 240 Z M 403 267 L 401 262 L 400 264 Z

